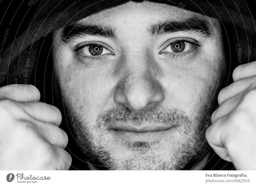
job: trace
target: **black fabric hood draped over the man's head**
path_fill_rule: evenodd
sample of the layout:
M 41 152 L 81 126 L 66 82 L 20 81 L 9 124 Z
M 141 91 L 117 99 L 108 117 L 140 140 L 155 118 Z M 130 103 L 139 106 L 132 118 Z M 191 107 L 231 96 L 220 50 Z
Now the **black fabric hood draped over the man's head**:
M 13 3 L 2 6 L 6 9 L 2 11 L 4 19 L 1 21 L 1 26 L 4 20 L 5 22 L 7 20 L 7 25 L 2 27 L 2 41 L 5 43 L 0 49 L 0 86 L 14 83 L 15 78 L 18 78 L 18 82 L 22 84 L 25 78 L 30 82 L 32 71 L 35 70 L 38 62 L 39 49 L 52 31 L 95 12 L 126 2 L 128 1 L 26 0 L 20 4 L 15 2 L 15 5 Z M 255 19 L 250 11 L 250 7 L 255 6 L 252 2 L 243 0 L 186 0 L 183 2 L 162 0 L 157 2 L 220 19 L 224 25 L 223 35 L 227 35 L 228 42 L 233 45 L 230 46 L 230 50 L 236 50 L 236 54 L 232 54 L 232 60 L 234 59 L 231 62 L 232 65 L 237 66 L 256 60 Z M 17 10 L 13 10 L 13 7 L 17 7 Z M 231 56 L 228 53 L 226 55 Z M 234 55 L 237 57 L 234 58 Z M 26 69 L 28 77 L 24 77 Z

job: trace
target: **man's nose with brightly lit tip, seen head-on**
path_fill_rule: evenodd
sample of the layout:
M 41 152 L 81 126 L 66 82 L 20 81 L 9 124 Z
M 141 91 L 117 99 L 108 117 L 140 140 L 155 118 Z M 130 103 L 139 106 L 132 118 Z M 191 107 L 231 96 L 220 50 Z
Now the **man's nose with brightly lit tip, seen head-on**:
M 147 65 L 125 64 L 114 101 L 134 111 L 148 110 L 164 100 L 163 89 Z

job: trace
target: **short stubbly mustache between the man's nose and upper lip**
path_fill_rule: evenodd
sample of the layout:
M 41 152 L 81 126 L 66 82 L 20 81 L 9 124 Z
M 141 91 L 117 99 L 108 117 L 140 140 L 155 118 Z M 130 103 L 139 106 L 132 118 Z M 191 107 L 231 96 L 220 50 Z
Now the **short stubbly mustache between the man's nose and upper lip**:
M 170 124 L 175 123 L 191 123 L 183 110 L 167 109 L 162 106 L 152 107 L 150 110 L 140 112 L 132 111 L 128 107 L 116 107 L 100 113 L 96 122 L 106 126 L 118 126 L 118 123 L 129 123 L 134 126 L 139 126 L 143 123 L 161 123 L 164 126 L 170 126 Z

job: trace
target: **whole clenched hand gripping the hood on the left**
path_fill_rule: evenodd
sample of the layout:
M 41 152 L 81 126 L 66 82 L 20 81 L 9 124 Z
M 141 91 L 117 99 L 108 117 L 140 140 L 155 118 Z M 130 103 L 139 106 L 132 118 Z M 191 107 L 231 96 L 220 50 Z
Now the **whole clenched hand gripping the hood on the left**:
M 71 156 L 64 150 L 68 136 L 58 127 L 60 111 L 39 99 L 32 85 L 0 88 L 0 169 L 69 169 Z

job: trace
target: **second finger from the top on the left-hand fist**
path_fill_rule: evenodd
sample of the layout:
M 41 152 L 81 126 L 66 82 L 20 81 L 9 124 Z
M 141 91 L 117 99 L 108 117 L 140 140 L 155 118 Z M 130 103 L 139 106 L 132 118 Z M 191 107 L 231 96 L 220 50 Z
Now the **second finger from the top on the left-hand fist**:
M 21 102 L 19 108 L 23 108 L 26 114 L 20 114 L 21 119 L 34 118 L 43 122 L 54 123 L 57 126 L 61 123 L 60 110 L 53 106 L 42 102 Z

